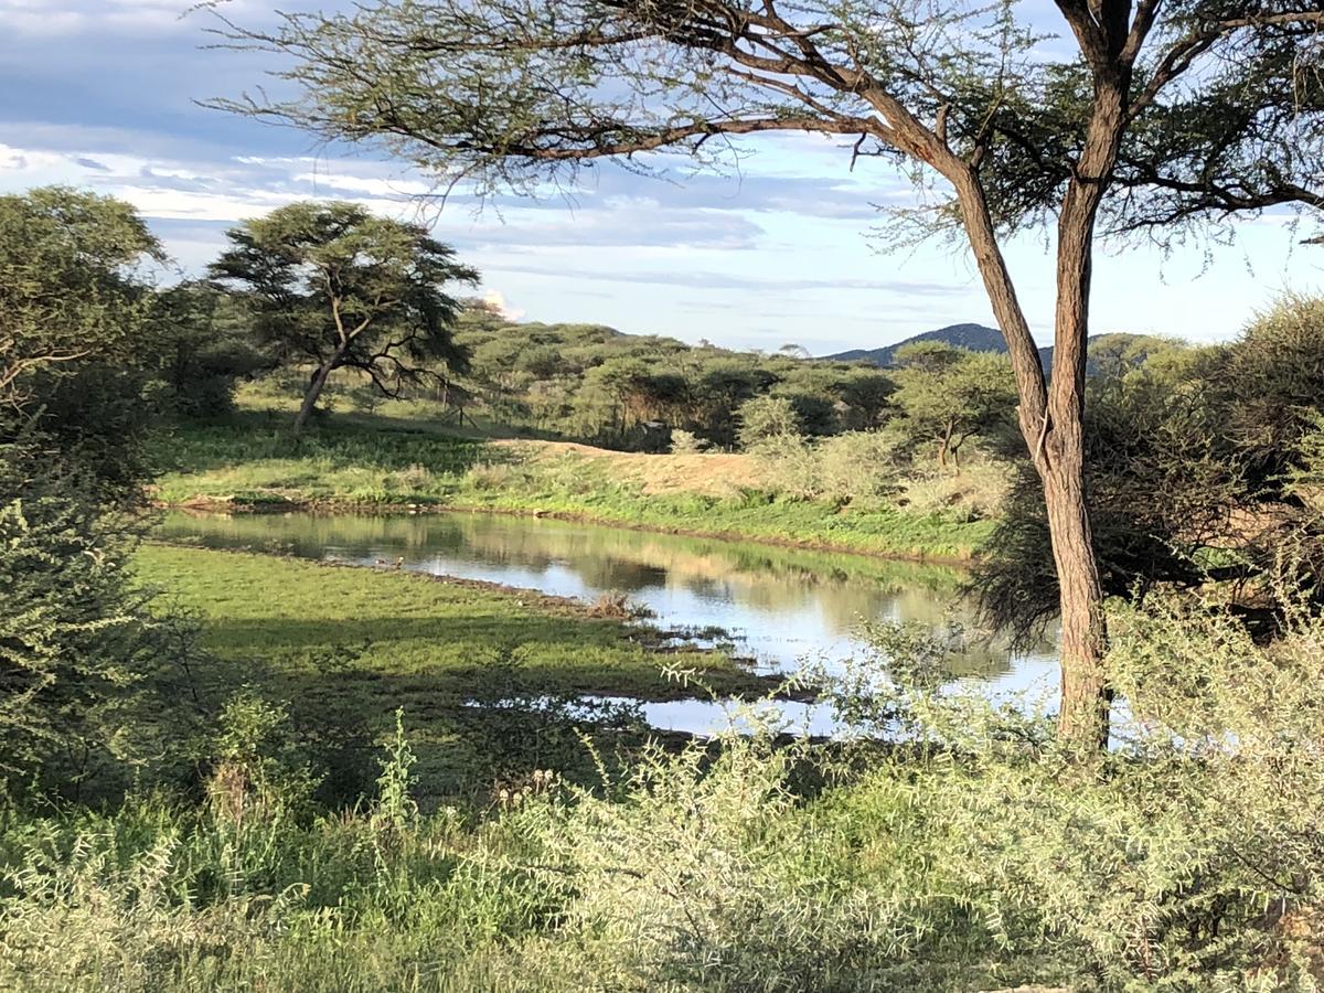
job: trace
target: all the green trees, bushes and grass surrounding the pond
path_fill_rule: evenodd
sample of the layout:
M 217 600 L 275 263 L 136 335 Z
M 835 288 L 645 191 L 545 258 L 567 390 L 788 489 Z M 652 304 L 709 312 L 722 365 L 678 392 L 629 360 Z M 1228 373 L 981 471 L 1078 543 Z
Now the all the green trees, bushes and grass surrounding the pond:
M 295 93 L 232 110 L 491 191 L 777 130 L 932 168 L 922 220 L 969 242 L 1009 357 L 516 324 L 347 204 L 179 283 L 127 204 L 0 197 L 0 986 L 1319 989 L 1324 302 L 1087 354 L 1100 221 L 1319 205 L 1316 7 L 1061 0 L 1064 61 L 1010 7 L 230 28 Z M 1049 217 L 1046 372 L 1001 244 Z M 878 620 L 779 682 L 622 600 L 158 544 L 159 503 L 973 556 L 993 624 L 1061 625 L 1062 692 L 989 700 L 953 683 L 969 633 Z M 702 687 L 850 733 L 641 719 Z

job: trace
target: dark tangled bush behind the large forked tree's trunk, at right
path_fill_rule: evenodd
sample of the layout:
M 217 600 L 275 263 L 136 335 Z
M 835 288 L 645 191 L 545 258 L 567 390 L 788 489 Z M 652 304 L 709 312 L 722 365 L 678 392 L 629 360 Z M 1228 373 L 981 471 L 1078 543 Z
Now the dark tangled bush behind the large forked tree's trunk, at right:
M 1294 493 L 1294 453 L 1324 412 L 1324 310 L 1288 298 L 1227 346 L 1151 347 L 1088 381 L 1087 482 L 1111 596 L 1235 584 L 1251 613 L 1284 549 L 1324 561 L 1317 518 Z M 1038 481 L 1022 471 L 976 588 L 990 617 L 1027 636 L 1057 610 Z

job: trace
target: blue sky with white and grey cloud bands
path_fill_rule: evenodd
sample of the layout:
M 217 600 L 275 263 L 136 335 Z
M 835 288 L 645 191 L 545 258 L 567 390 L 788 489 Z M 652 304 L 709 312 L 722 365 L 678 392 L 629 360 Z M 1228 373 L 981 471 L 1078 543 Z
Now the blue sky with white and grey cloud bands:
M 132 203 L 184 274 L 236 221 L 310 197 L 424 218 L 483 274 L 481 293 L 527 320 L 610 324 L 732 348 L 794 343 L 814 355 L 875 348 L 952 323 L 993 323 L 969 254 L 887 252 L 876 204 L 908 187 L 818 138 L 751 144 L 737 173 L 663 179 L 602 164 L 591 184 L 481 209 L 372 150 L 328 150 L 290 128 L 207 110 L 262 85 L 253 53 L 208 49 L 213 21 L 189 0 L 0 0 L 0 192 L 52 183 Z M 230 0 L 260 25 L 281 9 L 346 0 Z M 1094 331 L 1225 340 L 1284 290 L 1324 287 L 1324 248 L 1279 218 L 1235 245 L 1162 256 L 1129 248 L 1095 265 Z M 1031 330 L 1051 340 L 1053 260 L 1042 234 L 1006 248 Z

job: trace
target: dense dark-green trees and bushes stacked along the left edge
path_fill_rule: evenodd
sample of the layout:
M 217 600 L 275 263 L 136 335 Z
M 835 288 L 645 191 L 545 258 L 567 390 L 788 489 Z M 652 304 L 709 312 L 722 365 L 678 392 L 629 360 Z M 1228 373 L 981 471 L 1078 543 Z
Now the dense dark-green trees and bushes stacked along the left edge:
M 114 797 L 172 764 L 184 618 L 131 587 L 163 256 L 136 212 L 65 188 L 0 197 L 0 782 Z

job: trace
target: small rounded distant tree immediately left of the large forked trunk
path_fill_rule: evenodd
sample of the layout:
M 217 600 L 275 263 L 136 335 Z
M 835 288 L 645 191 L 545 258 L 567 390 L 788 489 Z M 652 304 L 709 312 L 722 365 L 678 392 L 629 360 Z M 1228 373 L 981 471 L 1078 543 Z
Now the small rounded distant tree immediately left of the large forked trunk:
M 916 440 L 937 445 L 937 462 L 960 466 L 961 446 L 974 434 L 1014 417 L 1016 383 L 1002 355 L 970 352 L 940 342 L 918 342 L 896 351 L 903 426 Z

